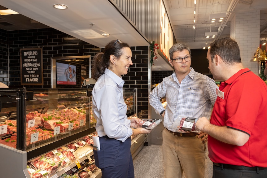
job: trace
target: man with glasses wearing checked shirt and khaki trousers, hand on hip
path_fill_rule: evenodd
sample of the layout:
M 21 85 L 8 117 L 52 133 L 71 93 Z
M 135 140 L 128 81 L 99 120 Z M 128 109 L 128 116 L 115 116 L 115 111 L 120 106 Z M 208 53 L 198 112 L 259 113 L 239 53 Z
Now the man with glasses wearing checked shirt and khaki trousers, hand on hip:
M 208 135 L 205 132 L 182 132 L 171 126 L 179 116 L 210 118 L 218 86 L 214 80 L 190 67 L 191 51 L 186 44 L 174 44 L 169 54 L 169 63 L 175 72 L 165 77 L 148 97 L 155 112 L 164 118 L 162 148 L 165 176 L 182 178 L 184 172 L 186 178 L 204 178 Z M 164 97 L 166 110 L 160 102 Z

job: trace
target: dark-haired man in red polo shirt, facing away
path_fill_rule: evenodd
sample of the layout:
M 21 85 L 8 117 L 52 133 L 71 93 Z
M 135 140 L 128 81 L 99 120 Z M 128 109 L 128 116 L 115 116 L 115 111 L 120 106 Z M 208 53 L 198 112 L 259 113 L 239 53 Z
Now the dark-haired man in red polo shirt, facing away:
M 210 121 L 196 127 L 208 133 L 213 178 L 267 177 L 267 86 L 244 68 L 238 44 L 231 38 L 214 41 L 208 50 L 209 69 L 224 80 L 217 90 Z

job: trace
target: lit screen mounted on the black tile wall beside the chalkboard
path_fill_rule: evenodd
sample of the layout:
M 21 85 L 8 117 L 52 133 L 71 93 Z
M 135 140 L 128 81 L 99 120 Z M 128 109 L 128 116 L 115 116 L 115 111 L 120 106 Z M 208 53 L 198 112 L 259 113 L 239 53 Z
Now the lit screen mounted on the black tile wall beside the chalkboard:
M 76 85 L 76 66 L 56 63 L 56 84 L 57 85 Z

